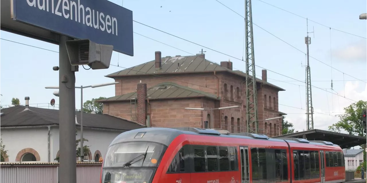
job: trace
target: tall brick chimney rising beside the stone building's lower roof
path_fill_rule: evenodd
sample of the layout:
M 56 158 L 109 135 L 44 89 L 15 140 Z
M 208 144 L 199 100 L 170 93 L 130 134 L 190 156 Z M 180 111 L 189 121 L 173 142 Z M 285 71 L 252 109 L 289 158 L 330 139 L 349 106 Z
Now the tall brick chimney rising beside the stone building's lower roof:
M 160 53 L 160 52 L 159 52 Z M 146 125 L 146 83 L 138 83 L 137 87 L 137 103 L 138 103 L 138 123 L 142 125 Z

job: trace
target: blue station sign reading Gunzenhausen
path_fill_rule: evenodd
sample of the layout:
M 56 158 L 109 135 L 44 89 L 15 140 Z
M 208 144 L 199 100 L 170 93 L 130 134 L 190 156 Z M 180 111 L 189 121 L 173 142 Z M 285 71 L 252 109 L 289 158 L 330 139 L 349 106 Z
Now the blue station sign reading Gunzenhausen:
M 134 56 L 132 11 L 108 0 L 12 0 L 12 18 Z

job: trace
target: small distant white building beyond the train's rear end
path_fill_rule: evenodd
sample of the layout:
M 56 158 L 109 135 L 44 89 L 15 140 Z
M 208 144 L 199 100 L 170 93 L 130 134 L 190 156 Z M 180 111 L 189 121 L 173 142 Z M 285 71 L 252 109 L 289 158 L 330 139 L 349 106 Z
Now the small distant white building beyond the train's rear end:
M 343 149 L 345 169 L 355 170 L 363 163 L 363 149 Z

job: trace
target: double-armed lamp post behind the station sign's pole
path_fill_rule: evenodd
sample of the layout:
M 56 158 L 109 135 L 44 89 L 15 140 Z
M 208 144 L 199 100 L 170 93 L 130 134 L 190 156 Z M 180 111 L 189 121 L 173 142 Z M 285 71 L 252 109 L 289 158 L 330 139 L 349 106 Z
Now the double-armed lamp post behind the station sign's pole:
M 109 86 L 109 85 L 116 85 L 119 84 L 119 82 L 112 82 L 112 83 L 102 83 L 97 85 L 89 85 L 89 86 L 76 86 L 75 88 L 80 89 L 80 157 L 84 157 L 83 154 L 83 89 L 84 88 L 97 88 L 102 86 Z M 46 89 L 59 89 L 58 86 L 46 86 Z M 54 92 L 54 96 L 59 96 L 59 92 Z M 83 158 L 84 159 L 84 158 Z M 81 159 L 83 161 L 83 159 Z

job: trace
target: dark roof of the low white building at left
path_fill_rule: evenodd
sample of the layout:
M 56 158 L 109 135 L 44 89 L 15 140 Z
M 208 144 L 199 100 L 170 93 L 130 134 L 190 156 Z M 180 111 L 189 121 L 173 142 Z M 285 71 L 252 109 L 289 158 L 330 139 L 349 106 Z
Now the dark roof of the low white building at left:
M 0 127 L 13 126 L 41 126 L 58 125 L 59 110 L 17 105 L 0 110 L 4 114 L 0 117 Z M 75 112 L 77 122 L 80 123 L 80 112 Z M 79 125 L 78 125 L 79 126 Z M 91 128 L 105 128 L 117 130 L 133 130 L 144 128 L 138 123 L 106 114 L 83 114 L 83 126 Z

